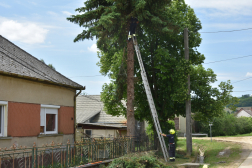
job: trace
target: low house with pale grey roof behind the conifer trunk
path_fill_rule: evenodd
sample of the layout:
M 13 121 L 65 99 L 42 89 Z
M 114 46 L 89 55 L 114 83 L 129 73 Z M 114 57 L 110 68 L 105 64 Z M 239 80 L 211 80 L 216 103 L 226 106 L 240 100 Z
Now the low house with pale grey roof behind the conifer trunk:
M 81 137 L 118 137 L 127 135 L 127 119 L 103 110 L 100 95 L 79 95 L 76 99 L 78 133 Z M 136 135 L 144 133 L 146 122 L 136 121 Z

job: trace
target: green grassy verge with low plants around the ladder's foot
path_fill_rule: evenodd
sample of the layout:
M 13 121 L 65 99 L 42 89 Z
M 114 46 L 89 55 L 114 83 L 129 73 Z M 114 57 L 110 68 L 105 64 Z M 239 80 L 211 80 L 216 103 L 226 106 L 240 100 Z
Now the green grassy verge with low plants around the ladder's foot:
M 222 166 L 232 165 L 234 161 L 240 159 L 241 144 L 234 142 L 220 142 L 210 141 L 203 139 L 193 139 L 193 154 L 192 156 L 186 156 L 186 139 L 179 139 L 176 149 L 176 161 L 166 163 L 163 159 L 162 152 L 141 152 L 132 153 L 115 159 L 108 166 L 108 168 L 140 168 L 140 167 L 156 167 L 154 164 L 158 164 L 165 168 L 185 168 L 178 166 L 183 163 L 192 163 L 196 160 L 199 148 L 205 151 L 205 163 L 210 164 L 209 168 L 217 168 Z M 226 155 L 220 157 L 219 152 L 227 149 Z M 151 165 L 152 166 L 151 166 Z M 127 166 L 126 166 L 127 165 Z M 157 166 L 157 167 L 160 167 Z

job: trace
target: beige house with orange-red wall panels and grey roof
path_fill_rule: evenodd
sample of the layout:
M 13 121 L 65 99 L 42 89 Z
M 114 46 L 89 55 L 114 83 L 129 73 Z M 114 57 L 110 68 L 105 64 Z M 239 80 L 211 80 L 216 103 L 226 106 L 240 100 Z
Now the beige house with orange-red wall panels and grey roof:
M 0 36 L 0 148 L 73 142 L 84 89 Z

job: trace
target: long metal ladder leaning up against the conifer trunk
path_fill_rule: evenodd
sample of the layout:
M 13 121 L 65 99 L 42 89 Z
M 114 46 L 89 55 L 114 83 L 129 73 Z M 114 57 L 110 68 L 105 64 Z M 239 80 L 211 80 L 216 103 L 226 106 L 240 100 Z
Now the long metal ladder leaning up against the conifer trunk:
M 134 39 L 134 37 L 132 39 L 133 39 L 135 51 L 136 51 L 136 54 L 137 54 L 138 62 L 139 62 L 139 65 L 140 65 L 141 76 L 142 76 L 142 80 L 143 80 L 143 83 L 144 83 L 144 88 L 145 88 L 145 92 L 146 92 L 146 95 L 147 95 L 148 103 L 149 103 L 149 106 L 150 106 L 150 109 L 151 109 L 152 118 L 154 120 L 155 128 L 156 128 L 156 131 L 157 131 L 157 134 L 158 134 L 158 138 L 159 138 L 159 142 L 160 142 L 160 145 L 161 145 L 161 148 L 162 148 L 164 159 L 167 162 L 168 161 L 167 158 L 169 158 L 169 155 L 168 155 L 167 148 L 166 148 L 166 145 L 165 145 L 165 142 L 164 142 L 164 137 L 160 135 L 160 133 L 162 133 L 162 130 L 161 130 L 161 127 L 160 127 L 160 124 L 159 124 L 158 115 L 157 115 L 155 104 L 154 104 L 154 101 L 153 101 L 153 98 L 152 98 L 152 94 L 151 94 L 150 86 L 149 86 L 149 83 L 148 83 L 147 75 L 146 75 L 146 72 L 145 72 L 145 69 L 144 69 L 144 66 L 143 66 L 141 53 L 140 53 L 140 50 L 139 50 L 139 47 L 138 47 L 138 44 L 137 44 L 137 40 Z

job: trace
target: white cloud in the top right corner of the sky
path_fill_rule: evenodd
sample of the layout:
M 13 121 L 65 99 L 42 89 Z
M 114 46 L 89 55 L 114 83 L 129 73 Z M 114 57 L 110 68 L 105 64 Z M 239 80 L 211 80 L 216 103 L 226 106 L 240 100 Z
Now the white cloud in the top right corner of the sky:
M 211 9 L 208 11 L 209 15 L 252 15 L 251 0 L 185 0 L 185 2 L 192 8 Z

